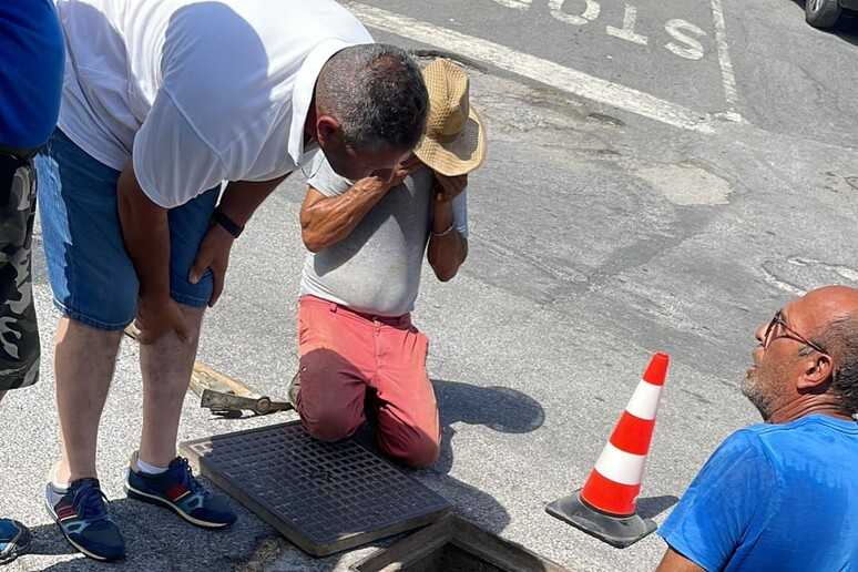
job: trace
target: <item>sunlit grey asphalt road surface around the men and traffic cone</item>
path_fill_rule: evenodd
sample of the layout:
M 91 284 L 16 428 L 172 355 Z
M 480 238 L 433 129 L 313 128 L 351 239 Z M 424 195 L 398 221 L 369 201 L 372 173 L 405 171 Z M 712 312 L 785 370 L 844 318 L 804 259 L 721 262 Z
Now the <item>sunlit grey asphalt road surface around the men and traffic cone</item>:
M 388 30 L 382 40 L 504 49 L 472 72 L 491 146 L 471 178 L 470 258 L 450 284 L 427 273 L 416 311 L 445 426 L 441 460 L 416 474 L 467 518 L 572 570 L 651 570 L 664 550 L 656 537 L 614 550 L 544 505 L 583 484 L 650 354 L 664 350 L 673 367 L 641 501 L 662 521 L 717 443 L 757 421 L 737 389 L 754 327 L 805 289 L 858 285 L 855 27 L 818 32 L 789 0 L 726 0 L 731 96 L 716 4 L 637 6 L 643 45 L 605 32 L 622 28 L 620 2 L 601 1 L 584 25 L 556 19 L 547 1 L 507 3 L 518 8 L 351 4 Z M 402 17 L 428 28 L 390 34 Z M 665 22 L 677 19 L 705 32 L 698 60 L 664 48 Z M 548 81 L 531 76 L 540 70 Z M 285 394 L 296 367 L 303 190 L 299 173 L 287 180 L 236 245 L 201 348 L 203 361 L 272 395 Z M 100 570 L 70 553 L 40 504 L 57 451 L 55 314 L 41 259 L 35 272 L 43 379 L 2 404 L 0 513 L 33 525 L 37 553 L 11 570 Z M 122 468 L 140 428 L 135 359 L 127 345 L 102 432 L 102 480 L 131 541 L 130 560 L 112 569 L 341 570 L 372 550 L 314 561 L 246 511 L 233 531 L 210 534 L 125 500 Z M 191 396 L 185 405 L 182 439 L 288 418 L 221 421 Z

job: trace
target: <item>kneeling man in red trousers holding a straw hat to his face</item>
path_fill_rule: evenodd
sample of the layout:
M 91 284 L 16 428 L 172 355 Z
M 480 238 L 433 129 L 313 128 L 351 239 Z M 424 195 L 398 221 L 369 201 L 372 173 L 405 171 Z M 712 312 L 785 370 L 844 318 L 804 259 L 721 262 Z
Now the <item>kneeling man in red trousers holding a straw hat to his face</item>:
M 437 60 L 423 79 L 429 118 L 415 157 L 351 182 L 318 154 L 300 213 L 310 254 L 289 389 L 310 435 L 348 437 L 368 410 L 381 450 L 412 467 L 433 463 L 441 438 L 429 340 L 410 319 L 423 253 L 438 279 L 456 276 L 468 255 L 468 173 L 486 155 L 464 71 Z

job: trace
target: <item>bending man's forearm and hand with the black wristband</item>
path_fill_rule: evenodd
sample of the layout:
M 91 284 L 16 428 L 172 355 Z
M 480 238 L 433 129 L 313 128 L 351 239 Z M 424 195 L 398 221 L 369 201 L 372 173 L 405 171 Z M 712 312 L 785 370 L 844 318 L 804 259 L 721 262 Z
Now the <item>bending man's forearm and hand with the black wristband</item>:
M 277 188 L 277 185 L 286 176 L 273 181 L 236 181 L 228 183 L 221 196 L 218 208 L 233 223 L 244 227 L 259 205 Z M 223 226 L 219 224 L 212 225 L 200 245 L 194 266 L 191 268 L 191 275 L 188 276 L 191 284 L 200 282 L 206 269 L 212 269 L 213 289 L 208 307 L 217 303 L 224 290 L 226 268 L 229 265 L 229 251 L 233 247 L 233 242 L 235 242 L 235 237 Z

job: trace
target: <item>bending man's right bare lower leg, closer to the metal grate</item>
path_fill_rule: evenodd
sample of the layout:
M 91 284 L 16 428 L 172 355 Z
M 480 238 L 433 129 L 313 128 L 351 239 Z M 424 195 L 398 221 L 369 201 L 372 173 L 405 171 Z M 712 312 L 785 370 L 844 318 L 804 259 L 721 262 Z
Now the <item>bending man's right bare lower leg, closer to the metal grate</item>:
M 204 308 L 182 306 L 190 339 L 182 343 L 170 333 L 140 348 L 143 374 L 143 435 L 140 459 L 155 467 L 167 467 L 176 457 L 176 437 L 182 404 L 191 382 Z

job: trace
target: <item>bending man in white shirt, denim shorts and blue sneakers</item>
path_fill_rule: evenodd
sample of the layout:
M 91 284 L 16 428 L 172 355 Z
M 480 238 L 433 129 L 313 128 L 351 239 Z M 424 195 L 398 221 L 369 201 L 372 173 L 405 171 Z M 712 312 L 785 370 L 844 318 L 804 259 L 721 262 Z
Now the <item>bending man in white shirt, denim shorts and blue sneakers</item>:
M 58 0 L 68 43 L 59 129 L 40 156 L 63 454 L 45 503 L 84 554 L 125 545 L 95 451 L 122 330 L 141 334 L 143 432 L 129 496 L 205 528 L 235 513 L 176 457 L 204 308 L 233 241 L 318 145 L 362 177 L 418 141 L 426 89 L 333 0 Z M 222 181 L 228 181 L 223 194 Z M 218 202 L 219 195 L 219 202 Z

